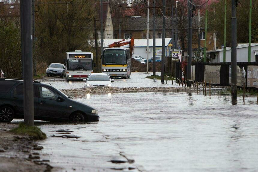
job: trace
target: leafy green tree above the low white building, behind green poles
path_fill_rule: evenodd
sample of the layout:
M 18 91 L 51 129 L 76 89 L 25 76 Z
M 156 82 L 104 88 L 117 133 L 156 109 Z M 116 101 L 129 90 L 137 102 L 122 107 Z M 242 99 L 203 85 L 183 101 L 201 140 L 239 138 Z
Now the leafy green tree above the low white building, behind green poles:
M 227 0 L 226 13 L 226 46 L 231 46 L 231 0 Z M 258 0 L 252 1 L 251 42 L 258 42 Z M 237 43 L 248 43 L 249 1 L 241 1 L 236 8 Z M 218 32 L 217 44 L 223 44 L 224 34 L 224 1 L 211 4 L 208 8 L 208 31 Z

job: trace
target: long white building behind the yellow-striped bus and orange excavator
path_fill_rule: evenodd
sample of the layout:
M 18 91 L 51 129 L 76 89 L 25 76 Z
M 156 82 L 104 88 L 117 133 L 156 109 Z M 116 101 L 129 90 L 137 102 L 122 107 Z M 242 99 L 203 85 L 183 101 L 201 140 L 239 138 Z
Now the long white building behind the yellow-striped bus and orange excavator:
M 100 42 L 101 40 L 98 40 Z M 121 41 L 121 39 L 104 39 L 103 40 L 103 47 L 107 48 L 110 44 L 114 42 Z M 130 41 L 130 40 L 128 40 Z M 172 47 L 169 47 L 172 41 L 171 38 L 165 38 L 165 56 L 171 56 Z M 122 47 L 129 47 L 129 45 L 125 45 Z M 156 56 L 161 57 L 161 47 L 162 47 L 162 39 L 156 38 Z M 144 59 L 147 59 L 147 39 L 134 39 L 134 55 L 142 56 Z M 179 52 L 182 54 L 182 50 L 174 50 L 175 52 Z M 153 39 L 149 39 L 149 59 L 153 56 Z

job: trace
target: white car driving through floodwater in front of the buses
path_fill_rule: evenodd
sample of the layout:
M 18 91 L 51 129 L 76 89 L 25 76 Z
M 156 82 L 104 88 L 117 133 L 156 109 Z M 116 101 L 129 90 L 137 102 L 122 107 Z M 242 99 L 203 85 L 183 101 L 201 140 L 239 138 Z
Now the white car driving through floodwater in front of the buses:
M 113 87 L 113 81 L 111 80 L 109 74 L 104 73 L 92 73 L 89 74 L 87 80 L 84 79 L 83 81 L 86 81 L 84 84 L 84 88 L 89 87 Z

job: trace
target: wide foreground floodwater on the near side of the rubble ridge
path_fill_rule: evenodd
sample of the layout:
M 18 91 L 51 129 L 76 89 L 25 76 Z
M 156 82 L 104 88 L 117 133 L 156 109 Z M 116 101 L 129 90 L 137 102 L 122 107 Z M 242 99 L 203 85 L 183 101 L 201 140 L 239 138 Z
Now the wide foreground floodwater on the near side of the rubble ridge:
M 229 95 L 139 92 L 71 95 L 99 111 L 86 124 L 40 122 L 43 158 L 63 171 L 257 171 L 258 105 Z M 67 129 L 78 139 L 51 137 Z M 133 158 L 115 164 L 113 159 Z M 136 168 L 128 170 L 128 167 Z

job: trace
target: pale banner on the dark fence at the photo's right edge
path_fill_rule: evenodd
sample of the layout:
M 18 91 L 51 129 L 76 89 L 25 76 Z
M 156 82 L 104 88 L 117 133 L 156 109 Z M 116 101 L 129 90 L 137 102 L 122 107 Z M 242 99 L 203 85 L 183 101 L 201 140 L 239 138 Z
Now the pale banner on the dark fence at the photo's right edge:
M 258 88 L 258 66 L 247 66 L 247 86 Z

